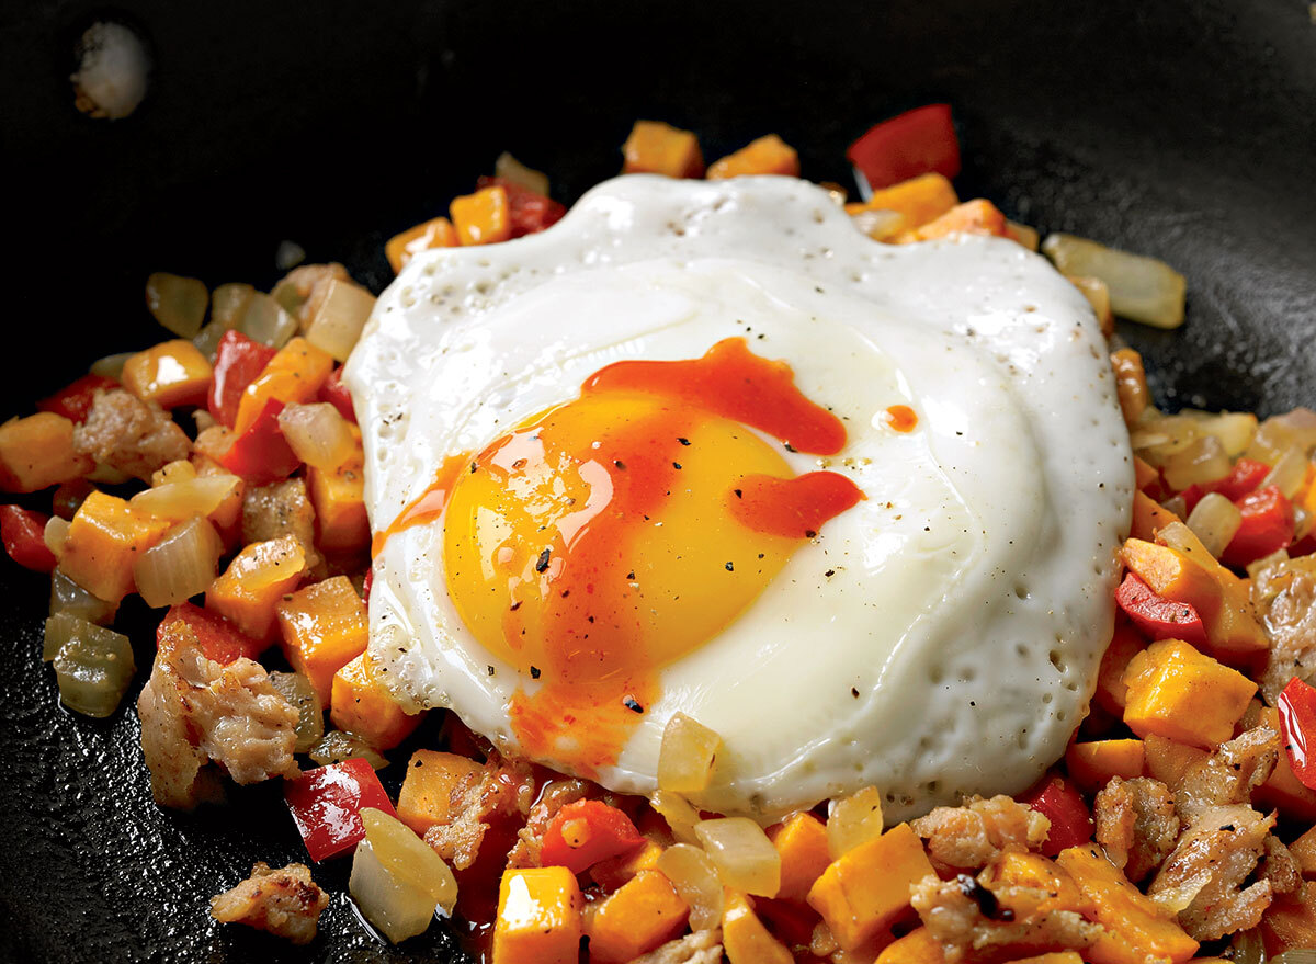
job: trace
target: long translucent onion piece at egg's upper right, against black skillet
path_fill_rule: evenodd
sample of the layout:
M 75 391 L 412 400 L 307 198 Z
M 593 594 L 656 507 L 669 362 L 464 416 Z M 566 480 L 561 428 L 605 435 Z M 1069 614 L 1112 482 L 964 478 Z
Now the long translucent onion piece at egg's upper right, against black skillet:
M 1187 281 L 1155 258 L 1129 254 L 1073 234 L 1051 234 L 1042 242 L 1042 254 L 1062 274 L 1100 278 L 1111 290 L 1111 308 L 1120 317 L 1178 328 L 1183 324 Z

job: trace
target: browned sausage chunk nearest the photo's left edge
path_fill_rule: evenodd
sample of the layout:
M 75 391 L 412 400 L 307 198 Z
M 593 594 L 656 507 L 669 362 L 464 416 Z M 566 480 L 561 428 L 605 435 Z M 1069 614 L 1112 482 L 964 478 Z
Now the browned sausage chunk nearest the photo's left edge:
M 87 420 L 74 429 L 74 448 L 149 482 L 161 466 L 187 458 L 192 444 L 158 404 L 113 388 L 96 392 Z

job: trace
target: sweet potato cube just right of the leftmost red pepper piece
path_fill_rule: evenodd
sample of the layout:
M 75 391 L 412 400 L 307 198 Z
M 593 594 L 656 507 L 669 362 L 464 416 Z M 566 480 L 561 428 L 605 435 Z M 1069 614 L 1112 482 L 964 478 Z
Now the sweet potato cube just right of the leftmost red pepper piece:
M 117 603 L 133 591 L 133 562 L 174 523 L 93 491 L 68 523 L 59 570 L 92 595 Z

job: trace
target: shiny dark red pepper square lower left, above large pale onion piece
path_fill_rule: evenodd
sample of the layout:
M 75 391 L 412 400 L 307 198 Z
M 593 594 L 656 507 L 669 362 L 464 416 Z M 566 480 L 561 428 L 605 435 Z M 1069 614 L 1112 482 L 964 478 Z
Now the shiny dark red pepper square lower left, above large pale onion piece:
M 374 768 L 361 757 L 283 781 L 283 799 L 307 853 L 316 863 L 350 851 L 366 836 L 361 822 L 363 809 L 375 807 L 397 817 Z

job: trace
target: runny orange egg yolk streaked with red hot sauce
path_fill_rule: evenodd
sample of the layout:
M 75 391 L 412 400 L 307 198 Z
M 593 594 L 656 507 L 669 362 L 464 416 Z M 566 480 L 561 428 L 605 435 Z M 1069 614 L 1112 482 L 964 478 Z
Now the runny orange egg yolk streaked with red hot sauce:
M 863 498 L 837 473 L 794 475 L 783 444 L 833 454 L 845 428 L 736 338 L 699 360 L 611 365 L 578 399 L 450 460 L 409 516 L 442 500 L 449 598 L 490 653 L 538 681 L 509 707 L 524 752 L 586 776 L 615 763 L 658 670 Z

